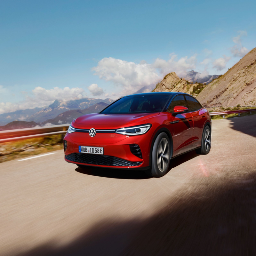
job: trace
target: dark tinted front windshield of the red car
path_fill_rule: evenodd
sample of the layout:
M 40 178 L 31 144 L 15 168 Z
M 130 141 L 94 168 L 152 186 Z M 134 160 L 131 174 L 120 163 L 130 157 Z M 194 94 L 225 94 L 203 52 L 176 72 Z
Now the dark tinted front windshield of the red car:
M 161 112 L 170 99 L 169 95 L 134 95 L 117 100 L 101 114 L 132 114 Z

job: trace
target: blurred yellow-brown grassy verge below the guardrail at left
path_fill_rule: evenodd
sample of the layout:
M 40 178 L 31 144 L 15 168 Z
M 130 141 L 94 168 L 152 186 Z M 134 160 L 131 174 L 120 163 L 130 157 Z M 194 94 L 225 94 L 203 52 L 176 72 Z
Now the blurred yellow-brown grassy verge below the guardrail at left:
M 60 149 L 62 135 L 0 143 L 0 163 Z

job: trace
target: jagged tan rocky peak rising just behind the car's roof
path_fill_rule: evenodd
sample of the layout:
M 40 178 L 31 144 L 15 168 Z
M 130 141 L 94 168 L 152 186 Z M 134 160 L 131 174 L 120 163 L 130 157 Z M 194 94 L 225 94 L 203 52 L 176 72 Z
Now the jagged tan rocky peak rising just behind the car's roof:
M 195 85 L 197 84 L 187 84 L 184 78 L 180 78 L 175 72 L 172 72 L 164 77 L 153 92 L 186 92 L 191 94 Z

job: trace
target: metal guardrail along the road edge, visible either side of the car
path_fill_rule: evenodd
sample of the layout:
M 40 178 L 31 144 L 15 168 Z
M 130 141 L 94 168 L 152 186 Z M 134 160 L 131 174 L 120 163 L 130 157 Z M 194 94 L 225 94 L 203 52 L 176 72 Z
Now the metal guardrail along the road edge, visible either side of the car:
M 223 116 L 228 114 L 236 114 L 240 116 L 240 113 L 256 111 L 256 109 L 243 109 L 243 110 L 232 110 L 232 111 L 221 111 L 221 112 L 211 112 L 210 116 Z M 0 143 L 17 141 L 17 140 L 27 140 L 33 138 L 47 137 L 52 135 L 66 134 L 69 124 L 43 126 L 35 128 L 17 129 L 0 131 Z

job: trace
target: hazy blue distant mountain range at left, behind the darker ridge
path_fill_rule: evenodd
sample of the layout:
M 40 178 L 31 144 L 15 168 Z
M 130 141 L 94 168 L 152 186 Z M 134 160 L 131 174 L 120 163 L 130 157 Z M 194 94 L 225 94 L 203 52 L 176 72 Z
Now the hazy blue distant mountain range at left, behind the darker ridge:
M 15 112 L 1 114 L 0 124 L 5 125 L 12 121 L 33 121 L 36 123 L 42 123 L 47 119 L 55 118 L 62 112 L 73 109 L 85 109 L 99 102 L 105 102 L 107 104 L 110 104 L 111 102 L 113 102 L 113 100 L 102 100 L 94 98 L 83 98 L 79 100 L 69 101 L 55 100 L 48 107 L 17 110 Z

